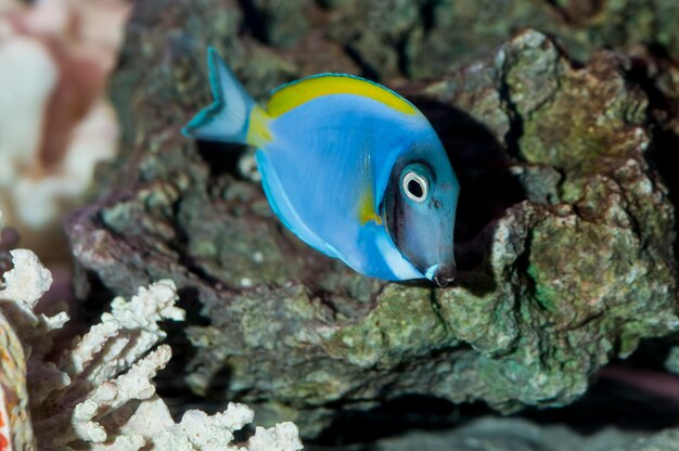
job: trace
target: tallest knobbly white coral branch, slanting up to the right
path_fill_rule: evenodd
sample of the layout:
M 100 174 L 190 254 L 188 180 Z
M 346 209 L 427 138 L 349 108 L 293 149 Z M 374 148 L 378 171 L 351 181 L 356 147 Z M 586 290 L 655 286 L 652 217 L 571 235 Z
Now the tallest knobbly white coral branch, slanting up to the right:
M 129 302 L 117 297 L 111 313 L 102 314 L 101 322 L 63 353 L 57 368 L 69 383 L 54 387 L 39 409 L 43 415 L 35 420 L 38 442 L 44 449 L 105 442 L 110 439 L 106 417 L 112 411 L 155 394 L 151 379 L 165 368 L 171 351 L 168 346 L 149 351 L 165 338 L 159 321 L 183 320 L 184 311 L 175 307 L 176 300 L 175 283 L 169 280 L 140 288 Z M 41 436 L 48 430 L 60 434 Z M 139 443 L 137 436 L 125 439 Z

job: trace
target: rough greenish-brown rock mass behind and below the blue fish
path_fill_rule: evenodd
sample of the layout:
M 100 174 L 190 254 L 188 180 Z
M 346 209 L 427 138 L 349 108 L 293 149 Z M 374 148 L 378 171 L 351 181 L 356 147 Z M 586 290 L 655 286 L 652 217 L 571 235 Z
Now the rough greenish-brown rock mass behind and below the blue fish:
M 67 224 L 80 297 L 102 286 L 129 295 L 171 278 L 190 311 L 192 390 L 241 399 L 307 435 L 338 409 L 405 394 L 483 400 L 503 412 L 563 405 L 612 358 L 676 331 L 675 212 L 658 173 L 676 160 L 666 146 L 677 131 L 667 101 L 678 95 L 676 72 L 649 53 L 593 52 L 648 38 L 676 54 L 670 2 L 453 9 L 456 21 L 474 17 L 471 33 L 448 10 L 395 1 L 384 10 L 398 18 L 383 21 L 388 30 L 366 25 L 347 36 L 337 24 L 356 23 L 355 2 L 322 3 L 290 2 L 285 14 L 303 21 L 295 26 L 283 12 L 267 13 L 277 2 L 138 7 L 112 91 L 123 157 L 101 172 L 99 201 Z M 628 3 L 640 13 L 619 22 Z M 569 11 L 580 18 L 566 20 Z M 644 11 L 653 26 L 637 26 Z M 573 55 L 591 59 L 574 63 L 534 30 L 496 47 L 516 24 L 541 17 L 543 29 L 580 42 L 569 44 Z M 447 53 L 431 65 L 400 59 L 427 39 Z M 259 99 L 308 72 L 436 75 L 393 86 L 431 118 L 461 179 L 458 282 L 434 289 L 353 273 L 281 227 L 260 186 L 239 171 L 241 149 L 182 138 L 179 128 L 208 101 L 207 44 Z M 436 55 L 427 49 L 413 52 Z M 657 70 L 639 75 L 639 65 Z M 449 66 L 460 67 L 444 75 Z

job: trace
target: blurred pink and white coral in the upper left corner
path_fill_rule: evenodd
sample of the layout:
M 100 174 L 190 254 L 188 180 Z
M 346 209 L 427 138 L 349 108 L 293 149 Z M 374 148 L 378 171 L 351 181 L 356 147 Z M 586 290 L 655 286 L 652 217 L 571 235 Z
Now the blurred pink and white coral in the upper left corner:
M 115 153 L 104 90 L 130 9 L 126 0 L 0 0 L 0 206 L 39 250 L 53 245 L 50 226 L 87 190 L 95 164 Z

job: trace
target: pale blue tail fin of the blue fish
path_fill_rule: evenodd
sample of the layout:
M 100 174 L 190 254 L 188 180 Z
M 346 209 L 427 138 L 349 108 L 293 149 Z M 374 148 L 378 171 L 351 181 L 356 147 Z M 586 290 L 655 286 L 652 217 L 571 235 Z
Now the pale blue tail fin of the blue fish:
M 256 106 L 235 75 L 214 48 L 207 50 L 209 86 L 214 102 L 181 130 L 198 140 L 247 143 L 249 115 Z

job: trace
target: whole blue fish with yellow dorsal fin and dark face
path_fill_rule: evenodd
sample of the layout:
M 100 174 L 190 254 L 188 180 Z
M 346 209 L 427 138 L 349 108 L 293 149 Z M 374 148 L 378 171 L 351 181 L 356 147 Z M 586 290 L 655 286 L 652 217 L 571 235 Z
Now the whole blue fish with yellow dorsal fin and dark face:
M 183 134 L 255 146 L 271 209 L 299 240 L 370 278 L 454 280 L 460 184 L 411 102 L 354 75 L 319 74 L 258 104 L 213 48 L 207 65 L 214 101 Z

